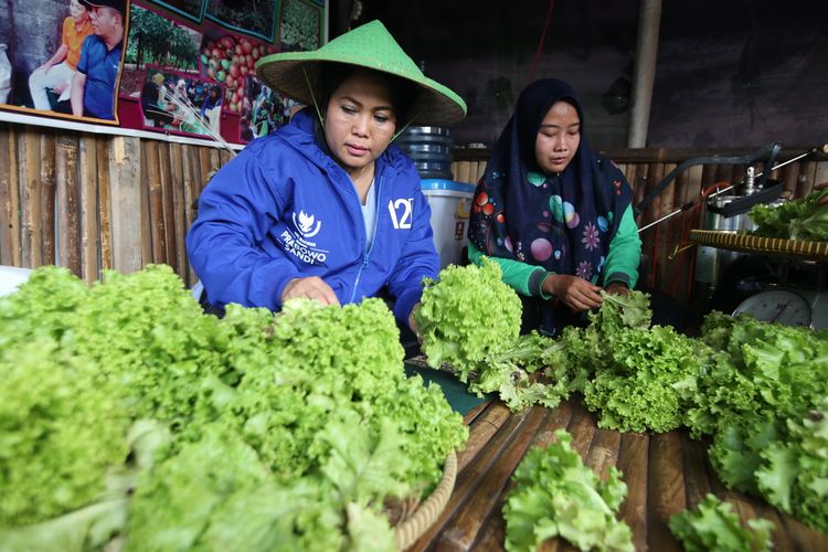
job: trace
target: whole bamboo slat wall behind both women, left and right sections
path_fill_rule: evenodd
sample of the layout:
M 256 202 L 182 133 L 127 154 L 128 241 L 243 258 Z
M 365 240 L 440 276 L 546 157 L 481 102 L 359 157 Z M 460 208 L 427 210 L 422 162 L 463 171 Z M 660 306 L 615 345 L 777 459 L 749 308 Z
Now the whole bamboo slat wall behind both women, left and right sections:
M 682 161 L 744 156 L 754 150 L 638 149 L 606 152 L 635 190 L 638 204 Z M 807 148 L 786 148 L 777 162 Z M 453 174 L 475 183 L 488 150 L 456 150 Z M 210 173 L 230 159 L 212 147 L 123 136 L 0 124 L 0 265 L 35 268 L 57 264 L 87 282 L 115 268 L 172 266 L 188 286 L 197 278 L 184 247 L 195 216 L 194 201 Z M 762 167 L 758 167 L 761 170 Z M 735 182 L 742 166 L 696 166 L 672 181 L 638 217 L 639 226 L 698 200 L 715 182 Z M 808 156 L 774 171 L 794 198 L 828 181 L 828 156 Z M 691 227 L 702 227 L 690 210 L 641 234 L 652 287 L 676 298 L 692 293 L 694 247 L 680 251 Z

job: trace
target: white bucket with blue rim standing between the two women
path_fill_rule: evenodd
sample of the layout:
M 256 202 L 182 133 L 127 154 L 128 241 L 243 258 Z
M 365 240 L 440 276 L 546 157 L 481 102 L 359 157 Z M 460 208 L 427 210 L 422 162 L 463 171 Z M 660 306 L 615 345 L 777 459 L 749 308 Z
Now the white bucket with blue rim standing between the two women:
M 468 243 L 468 215 L 475 185 L 453 180 L 424 179 L 420 183 L 432 208 L 434 246 L 439 254 L 439 267 L 463 263 L 463 248 Z

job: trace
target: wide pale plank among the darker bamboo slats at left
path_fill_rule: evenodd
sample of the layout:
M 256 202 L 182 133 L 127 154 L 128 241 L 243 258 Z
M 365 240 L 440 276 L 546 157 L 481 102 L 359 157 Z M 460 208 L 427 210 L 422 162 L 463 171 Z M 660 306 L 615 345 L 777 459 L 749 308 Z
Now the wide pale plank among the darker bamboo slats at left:
M 138 138 L 115 136 L 109 141 L 109 192 L 113 233 L 113 268 L 139 270 L 141 251 L 141 148 Z M 144 257 L 146 258 L 146 257 Z

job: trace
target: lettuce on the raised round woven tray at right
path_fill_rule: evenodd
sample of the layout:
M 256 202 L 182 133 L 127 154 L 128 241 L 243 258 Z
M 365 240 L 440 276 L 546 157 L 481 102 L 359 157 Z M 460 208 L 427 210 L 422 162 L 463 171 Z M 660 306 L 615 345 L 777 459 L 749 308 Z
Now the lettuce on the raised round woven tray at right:
M 779 205 L 760 203 L 747 215 L 756 224 L 752 235 L 783 240 L 828 240 L 828 204 L 819 200 L 828 197 L 828 188 Z

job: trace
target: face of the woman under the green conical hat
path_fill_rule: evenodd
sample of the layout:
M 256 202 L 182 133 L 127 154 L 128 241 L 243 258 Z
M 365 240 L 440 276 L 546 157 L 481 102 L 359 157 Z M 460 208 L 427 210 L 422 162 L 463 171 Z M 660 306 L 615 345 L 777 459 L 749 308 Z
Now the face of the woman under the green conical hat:
M 391 89 L 379 75 L 357 72 L 333 92 L 325 115 L 325 138 L 349 174 L 374 162 L 391 144 L 396 114 Z

